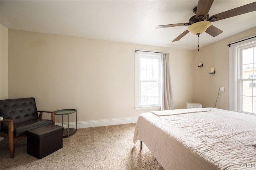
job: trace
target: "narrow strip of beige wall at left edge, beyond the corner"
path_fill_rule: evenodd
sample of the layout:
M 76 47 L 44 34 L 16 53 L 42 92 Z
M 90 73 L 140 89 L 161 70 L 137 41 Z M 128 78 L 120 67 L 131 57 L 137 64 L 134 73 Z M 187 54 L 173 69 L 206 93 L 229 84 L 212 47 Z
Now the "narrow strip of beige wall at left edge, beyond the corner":
M 0 28 L 0 99 L 8 98 L 8 28 Z

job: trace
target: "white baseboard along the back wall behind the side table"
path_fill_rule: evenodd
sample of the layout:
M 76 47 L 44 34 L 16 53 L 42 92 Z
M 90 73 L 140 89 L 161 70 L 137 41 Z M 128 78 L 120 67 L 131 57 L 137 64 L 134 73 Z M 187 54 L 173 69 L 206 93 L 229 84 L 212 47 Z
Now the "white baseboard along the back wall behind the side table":
M 126 117 L 126 118 L 118 118 L 118 119 L 83 121 L 83 122 L 77 122 L 77 128 L 102 127 L 102 126 L 129 124 L 129 123 L 136 123 L 137 120 L 138 120 L 138 117 Z M 55 125 L 62 126 L 62 123 L 56 123 Z M 63 127 L 68 128 L 68 123 L 63 123 Z M 76 122 L 70 122 L 69 127 L 76 128 Z

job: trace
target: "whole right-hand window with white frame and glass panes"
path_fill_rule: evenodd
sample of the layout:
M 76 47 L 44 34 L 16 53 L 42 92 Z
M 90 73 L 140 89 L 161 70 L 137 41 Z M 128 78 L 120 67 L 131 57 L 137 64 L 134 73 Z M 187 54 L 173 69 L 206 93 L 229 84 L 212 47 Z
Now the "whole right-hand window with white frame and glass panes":
M 230 110 L 256 114 L 256 38 L 231 46 L 229 90 Z

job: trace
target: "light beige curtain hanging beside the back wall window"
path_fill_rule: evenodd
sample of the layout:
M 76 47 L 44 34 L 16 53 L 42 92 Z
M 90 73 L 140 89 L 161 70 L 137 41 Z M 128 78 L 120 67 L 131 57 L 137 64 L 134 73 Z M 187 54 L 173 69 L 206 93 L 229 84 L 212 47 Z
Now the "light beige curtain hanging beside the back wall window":
M 174 109 L 172 102 L 171 78 L 169 69 L 169 53 L 162 53 L 161 57 L 162 72 L 162 101 L 161 110 Z

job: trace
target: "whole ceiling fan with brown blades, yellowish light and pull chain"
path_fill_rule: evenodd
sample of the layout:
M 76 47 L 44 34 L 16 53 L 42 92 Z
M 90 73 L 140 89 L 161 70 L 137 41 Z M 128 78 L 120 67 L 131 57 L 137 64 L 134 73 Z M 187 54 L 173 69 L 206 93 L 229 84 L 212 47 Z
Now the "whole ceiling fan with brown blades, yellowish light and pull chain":
M 189 22 L 180 23 L 180 24 L 168 24 L 168 25 L 160 25 L 156 28 L 166 28 L 166 27 L 176 27 L 176 26 L 189 26 L 186 31 L 180 34 L 177 38 L 175 38 L 172 42 L 176 42 L 184 37 L 186 34 L 191 32 L 192 34 L 198 35 L 198 51 L 199 51 L 199 35 L 206 32 L 211 36 L 215 37 L 221 34 L 223 31 L 211 25 L 211 22 L 215 22 L 218 20 L 223 20 L 226 18 L 230 18 L 233 16 L 238 16 L 241 14 L 246 14 L 248 12 L 252 12 L 256 10 L 256 2 L 252 2 L 250 4 L 240 6 L 238 8 L 234 8 L 232 10 L 228 10 L 225 12 L 221 12 L 219 14 L 215 14 L 213 16 L 209 16 L 208 12 L 212 6 L 214 0 L 199 0 L 198 6 L 193 9 L 194 16 L 189 19 Z

